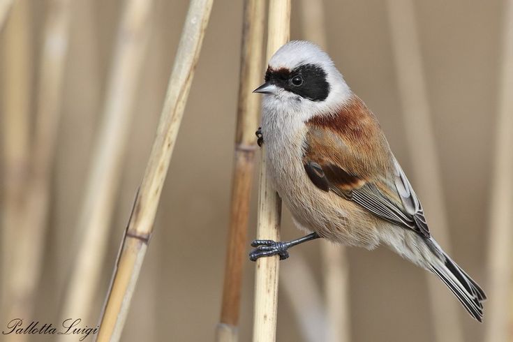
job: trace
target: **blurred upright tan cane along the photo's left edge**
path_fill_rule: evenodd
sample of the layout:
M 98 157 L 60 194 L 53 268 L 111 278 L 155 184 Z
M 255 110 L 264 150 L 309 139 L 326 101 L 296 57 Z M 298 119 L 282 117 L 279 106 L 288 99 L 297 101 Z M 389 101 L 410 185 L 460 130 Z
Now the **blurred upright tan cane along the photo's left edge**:
M 0 23 L 1 24 L 1 23 Z M 3 31 L 5 43 L 0 47 L 2 108 L 0 110 L 0 137 L 3 160 L 1 179 L 1 322 L 11 317 L 17 292 L 17 283 L 11 275 L 17 267 L 17 231 L 24 220 L 29 168 L 30 94 L 31 94 L 31 41 L 29 2 L 16 1 Z

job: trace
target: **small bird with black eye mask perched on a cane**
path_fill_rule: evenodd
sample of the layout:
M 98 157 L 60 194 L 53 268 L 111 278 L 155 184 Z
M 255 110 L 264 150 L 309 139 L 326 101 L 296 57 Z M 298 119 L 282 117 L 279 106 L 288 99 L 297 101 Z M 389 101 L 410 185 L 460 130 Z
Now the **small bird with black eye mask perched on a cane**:
M 436 274 L 482 322 L 484 291 L 431 236 L 378 119 L 329 55 L 308 41 L 285 43 L 253 92 L 263 94 L 256 135 L 265 144 L 267 174 L 297 228 L 308 235 L 255 240 L 249 258 L 284 260 L 292 246 L 318 238 L 367 249 L 384 244 Z

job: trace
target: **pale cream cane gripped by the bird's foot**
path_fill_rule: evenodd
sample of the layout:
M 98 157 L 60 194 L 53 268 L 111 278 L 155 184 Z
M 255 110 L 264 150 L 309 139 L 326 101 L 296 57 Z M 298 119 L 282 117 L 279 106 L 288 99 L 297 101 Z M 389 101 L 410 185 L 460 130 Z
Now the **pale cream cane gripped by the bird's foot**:
M 269 1 L 267 27 L 267 60 L 290 38 L 290 0 Z M 265 142 L 260 163 L 260 188 L 258 193 L 257 239 L 280 239 L 281 199 L 272 187 L 265 164 Z M 255 271 L 255 308 L 253 314 L 253 342 L 276 340 L 278 313 L 277 255 L 260 258 Z

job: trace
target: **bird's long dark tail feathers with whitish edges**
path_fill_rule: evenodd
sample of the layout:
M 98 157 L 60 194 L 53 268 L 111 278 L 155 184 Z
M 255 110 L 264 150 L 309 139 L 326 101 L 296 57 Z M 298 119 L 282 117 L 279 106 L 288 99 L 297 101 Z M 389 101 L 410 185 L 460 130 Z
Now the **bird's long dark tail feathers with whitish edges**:
M 437 256 L 437 258 L 433 258 L 430 262 L 431 272 L 442 279 L 473 318 L 482 322 L 482 302 L 486 299 L 482 288 L 456 262 L 449 258 L 449 255 L 438 246 L 436 241 L 429 239 L 426 242 L 431 251 L 433 251 L 433 254 Z

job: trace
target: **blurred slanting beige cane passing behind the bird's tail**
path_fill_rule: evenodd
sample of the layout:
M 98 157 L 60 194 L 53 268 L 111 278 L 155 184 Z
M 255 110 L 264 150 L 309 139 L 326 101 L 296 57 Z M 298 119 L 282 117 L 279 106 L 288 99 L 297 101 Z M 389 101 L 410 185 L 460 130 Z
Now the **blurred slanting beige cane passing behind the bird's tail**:
M 450 249 L 443 184 L 438 165 L 431 113 L 422 70 L 422 56 L 412 0 L 387 1 L 396 75 L 401 94 L 406 139 L 417 192 L 429 211 L 429 227 L 446 251 Z M 436 341 L 463 342 L 458 302 L 447 300 L 438 278 L 427 274 Z

